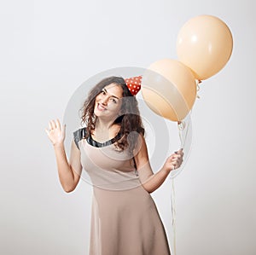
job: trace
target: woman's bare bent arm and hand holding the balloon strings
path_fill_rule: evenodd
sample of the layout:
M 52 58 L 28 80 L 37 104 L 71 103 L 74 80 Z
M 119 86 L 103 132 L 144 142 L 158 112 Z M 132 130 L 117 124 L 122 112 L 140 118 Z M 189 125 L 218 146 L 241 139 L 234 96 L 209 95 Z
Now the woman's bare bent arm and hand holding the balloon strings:
M 166 163 L 156 173 L 153 173 L 149 159 L 148 159 L 148 149 L 143 136 L 141 136 L 140 149 L 134 156 L 137 165 L 137 171 L 143 188 L 145 188 L 148 193 L 153 192 L 155 189 L 159 188 L 162 183 L 166 180 L 172 169 L 177 169 L 183 161 L 182 149 L 177 153 L 172 154 L 166 159 Z

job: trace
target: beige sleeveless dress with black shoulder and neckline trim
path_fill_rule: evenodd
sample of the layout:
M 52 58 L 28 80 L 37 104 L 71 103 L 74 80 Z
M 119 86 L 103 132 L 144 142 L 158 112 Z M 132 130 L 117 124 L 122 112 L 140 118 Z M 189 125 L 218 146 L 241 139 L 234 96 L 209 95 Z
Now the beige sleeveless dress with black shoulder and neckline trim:
M 93 185 L 89 255 L 170 255 L 166 231 L 119 135 L 100 143 L 85 128 L 73 132 L 81 165 Z

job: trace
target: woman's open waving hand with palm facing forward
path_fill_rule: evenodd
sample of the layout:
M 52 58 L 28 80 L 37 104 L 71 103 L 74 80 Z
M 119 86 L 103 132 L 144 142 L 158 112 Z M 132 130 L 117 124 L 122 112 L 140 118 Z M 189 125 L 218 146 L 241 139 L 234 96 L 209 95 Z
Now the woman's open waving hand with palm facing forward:
M 55 145 L 60 145 L 64 142 L 66 136 L 66 125 L 61 127 L 59 119 L 49 121 L 49 129 L 45 129 L 50 142 Z

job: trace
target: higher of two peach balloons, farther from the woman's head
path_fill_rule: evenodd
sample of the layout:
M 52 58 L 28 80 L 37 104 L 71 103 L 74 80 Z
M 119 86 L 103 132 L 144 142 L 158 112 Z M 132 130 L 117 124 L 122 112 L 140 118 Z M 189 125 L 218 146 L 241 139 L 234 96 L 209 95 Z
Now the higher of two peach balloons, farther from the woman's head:
M 233 38 L 223 20 L 200 15 L 188 20 L 177 35 L 177 57 L 203 80 L 219 72 L 230 60 Z

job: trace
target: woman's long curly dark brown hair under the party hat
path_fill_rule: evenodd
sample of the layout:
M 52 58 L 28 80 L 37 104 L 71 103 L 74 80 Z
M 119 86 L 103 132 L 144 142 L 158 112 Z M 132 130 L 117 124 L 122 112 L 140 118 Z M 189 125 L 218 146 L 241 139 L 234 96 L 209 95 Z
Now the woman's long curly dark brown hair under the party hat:
M 95 129 L 96 115 L 94 114 L 94 107 L 96 96 L 99 95 L 102 89 L 109 84 L 117 84 L 123 90 L 122 105 L 120 108 L 119 116 L 115 119 L 114 124 L 120 125 L 119 135 L 121 139 L 116 141 L 116 146 L 123 151 L 129 148 L 132 154 L 133 149 L 137 146 L 137 137 L 139 134 L 144 136 L 143 121 L 138 109 L 138 103 L 135 96 L 132 96 L 125 84 L 125 79 L 121 77 L 108 77 L 103 78 L 94 88 L 89 92 L 87 99 L 84 101 L 83 107 L 80 109 L 82 112 L 81 124 L 85 125 L 85 138 L 88 138 Z

